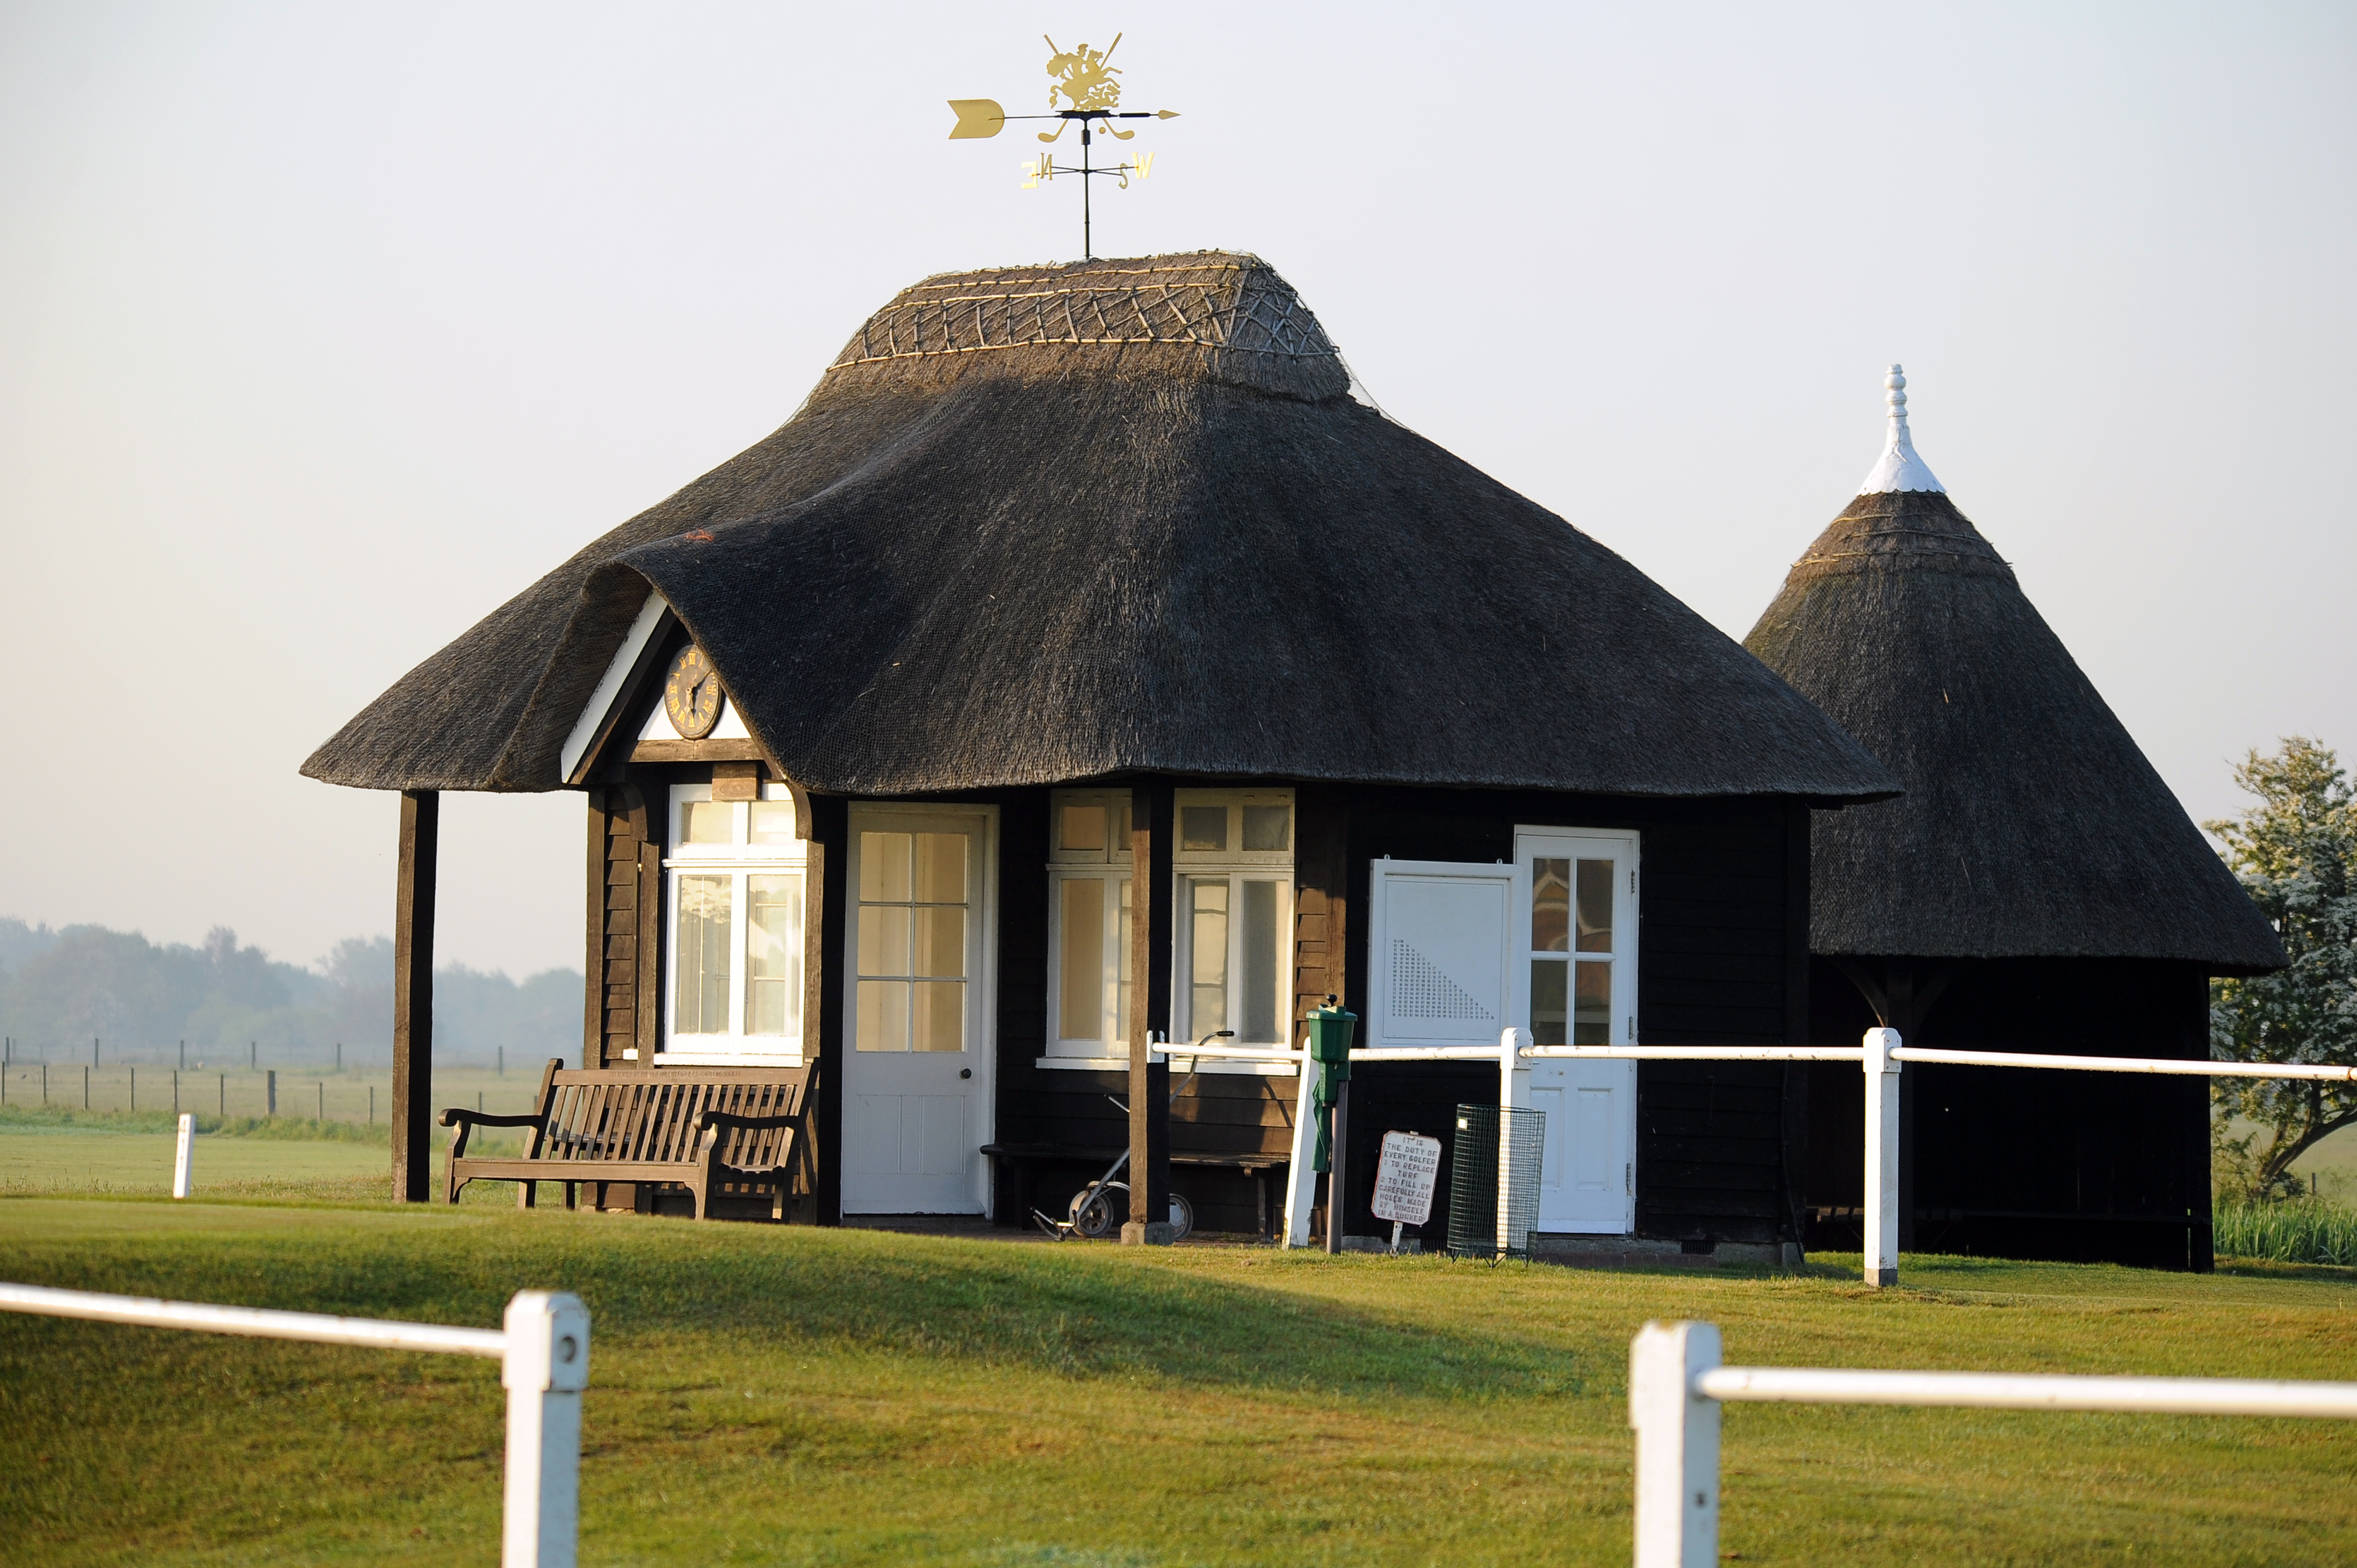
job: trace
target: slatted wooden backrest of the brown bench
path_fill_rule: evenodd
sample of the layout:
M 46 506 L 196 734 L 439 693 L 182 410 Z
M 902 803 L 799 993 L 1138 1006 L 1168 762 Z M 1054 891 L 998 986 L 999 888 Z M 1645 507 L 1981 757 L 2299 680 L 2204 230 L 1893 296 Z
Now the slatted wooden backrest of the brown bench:
M 552 1160 L 679 1160 L 695 1158 L 695 1118 L 794 1115 L 808 1089 L 808 1068 L 582 1068 L 549 1073 L 547 1132 L 540 1155 Z M 721 1162 L 783 1165 L 790 1127 L 721 1132 Z

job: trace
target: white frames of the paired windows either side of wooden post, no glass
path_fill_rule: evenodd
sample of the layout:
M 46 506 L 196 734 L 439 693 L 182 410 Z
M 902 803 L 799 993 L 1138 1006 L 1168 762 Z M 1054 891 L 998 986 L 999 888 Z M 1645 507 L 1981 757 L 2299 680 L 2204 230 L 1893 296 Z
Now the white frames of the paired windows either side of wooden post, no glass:
M 1127 879 L 1131 884 L 1131 898 L 1138 896 L 1141 884 L 1134 877 L 1129 839 L 1120 832 L 1127 821 L 1129 790 L 1054 790 L 1049 795 L 1049 931 L 1047 931 L 1047 1054 L 1037 1059 L 1042 1068 L 1094 1068 L 1094 1070 L 1127 1070 L 1129 1068 L 1129 1040 L 1115 1033 L 1089 1040 L 1087 1035 L 1065 1037 L 1063 1021 L 1063 884 L 1075 877 L 1098 877 L 1105 882 L 1105 941 L 1110 950 L 1117 948 L 1120 931 L 1113 922 L 1120 920 L 1120 884 Z M 1065 851 L 1058 849 L 1063 806 L 1105 806 L 1108 809 L 1108 837 L 1113 839 L 1105 851 Z M 1171 799 L 1171 835 L 1178 835 L 1181 813 L 1186 806 L 1226 806 L 1228 809 L 1228 846 L 1211 849 L 1176 849 L 1171 851 L 1171 1040 L 1193 1042 L 1193 986 L 1188 976 L 1193 974 L 1193 922 L 1186 917 L 1186 882 L 1190 877 L 1228 877 L 1230 889 L 1230 915 L 1242 908 L 1242 884 L 1244 882 L 1282 882 L 1285 896 L 1277 901 L 1277 934 L 1282 943 L 1280 953 L 1280 1030 L 1287 1035 L 1275 1045 L 1294 1045 L 1294 908 L 1299 903 L 1299 879 L 1294 875 L 1296 851 L 1301 844 L 1301 809 L 1292 790 L 1176 790 Z M 1287 809 L 1287 844 L 1285 849 L 1244 849 L 1244 806 L 1285 806 Z M 1242 941 L 1244 922 L 1228 920 L 1228 993 L 1235 997 L 1235 988 L 1242 983 Z M 1115 986 L 1108 986 L 1115 990 Z M 1230 1012 L 1235 1002 L 1230 1000 Z M 1108 1012 L 1115 1012 L 1108 1004 Z M 1240 1073 L 1254 1078 L 1282 1078 L 1292 1075 L 1294 1068 L 1282 1061 L 1204 1061 L 1204 1073 Z

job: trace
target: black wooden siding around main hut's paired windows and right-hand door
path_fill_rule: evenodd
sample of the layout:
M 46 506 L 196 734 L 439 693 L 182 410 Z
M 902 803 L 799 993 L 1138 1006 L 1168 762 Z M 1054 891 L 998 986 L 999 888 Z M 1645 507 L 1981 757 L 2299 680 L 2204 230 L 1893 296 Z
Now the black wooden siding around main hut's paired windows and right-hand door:
M 1002 1184 L 999 1224 L 1030 1207 L 1061 1212 L 1103 1160 L 1127 1146 L 1115 1101 L 1122 1073 L 1042 1068 L 1047 1052 L 1047 844 L 1049 790 L 997 790 L 957 799 L 999 806 L 997 1115 L 1002 1144 L 1105 1151 L 1025 1165 Z M 1513 828 L 1633 828 L 1643 835 L 1638 891 L 1638 1030 L 1648 1042 L 1777 1042 L 1803 1028 L 1808 908 L 1805 854 L 1794 858 L 1791 802 L 1631 802 L 1473 790 L 1367 790 L 1301 785 L 1296 792 L 1296 1016 L 1339 993 L 1365 1014 L 1367 865 L 1402 861 L 1506 861 Z M 825 837 L 825 835 L 820 835 Z M 1805 842 L 1805 839 L 1803 839 Z M 1796 887 L 1794 879 L 1801 877 Z M 832 929 L 832 927 L 830 927 Z M 834 936 L 827 938 L 839 941 Z M 832 1000 L 832 993 L 830 993 Z M 1796 1082 L 1796 1080 L 1794 1080 Z M 1796 1226 L 1798 1148 L 1789 1139 L 1782 1068 L 1648 1063 L 1638 1073 L 1638 1231 L 1664 1238 L 1780 1240 Z M 1353 1233 L 1372 1233 L 1374 1151 L 1391 1127 L 1447 1144 L 1459 1101 L 1497 1094 L 1487 1066 L 1426 1063 L 1362 1070 L 1353 1085 Z M 823 1096 L 825 1099 L 825 1096 Z M 1200 1075 L 1171 1108 L 1171 1151 L 1285 1153 L 1294 1078 Z M 1204 1231 L 1252 1231 L 1261 1203 L 1282 1191 L 1249 1177 L 1174 1170 L 1174 1186 Z M 1447 1191 L 1435 1200 L 1435 1226 Z

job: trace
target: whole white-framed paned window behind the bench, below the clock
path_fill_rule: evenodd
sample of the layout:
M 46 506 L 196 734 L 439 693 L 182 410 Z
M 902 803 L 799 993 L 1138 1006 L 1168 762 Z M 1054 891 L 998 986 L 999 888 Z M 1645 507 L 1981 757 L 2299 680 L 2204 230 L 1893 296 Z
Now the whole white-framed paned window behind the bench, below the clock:
M 806 846 L 794 802 L 712 785 L 672 790 L 672 995 L 658 1063 L 799 1061 L 804 1026 Z

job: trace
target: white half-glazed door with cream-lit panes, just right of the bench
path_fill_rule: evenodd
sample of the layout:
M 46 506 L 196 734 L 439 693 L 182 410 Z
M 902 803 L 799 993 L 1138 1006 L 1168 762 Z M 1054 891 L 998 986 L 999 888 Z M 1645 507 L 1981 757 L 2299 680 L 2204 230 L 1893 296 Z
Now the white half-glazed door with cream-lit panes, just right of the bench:
M 990 1205 L 997 816 L 851 806 L 844 1212 Z

